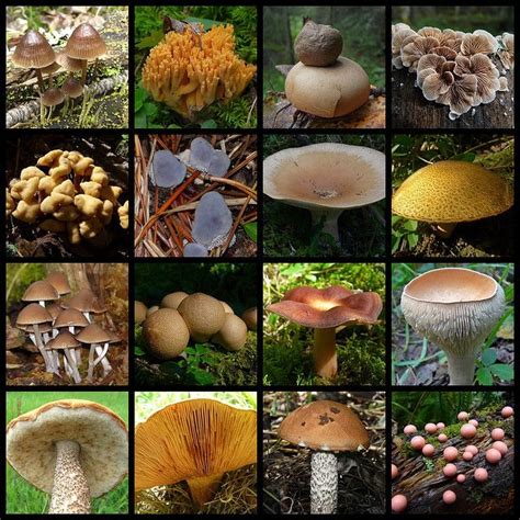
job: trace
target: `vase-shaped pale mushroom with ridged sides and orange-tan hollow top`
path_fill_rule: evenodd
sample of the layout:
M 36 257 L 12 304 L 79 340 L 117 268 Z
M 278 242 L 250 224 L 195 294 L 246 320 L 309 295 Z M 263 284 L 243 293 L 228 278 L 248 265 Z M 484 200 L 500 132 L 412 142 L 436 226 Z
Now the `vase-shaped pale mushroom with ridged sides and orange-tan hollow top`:
M 450 385 L 471 385 L 475 355 L 500 319 L 502 287 L 470 269 L 428 271 L 403 290 L 400 308 L 408 324 L 446 354 Z

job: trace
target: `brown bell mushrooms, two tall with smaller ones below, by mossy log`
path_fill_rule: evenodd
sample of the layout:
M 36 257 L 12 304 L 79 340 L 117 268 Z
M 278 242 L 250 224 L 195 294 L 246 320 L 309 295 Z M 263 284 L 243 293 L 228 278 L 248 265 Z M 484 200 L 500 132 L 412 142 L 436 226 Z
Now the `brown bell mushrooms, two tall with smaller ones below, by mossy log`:
M 83 93 L 89 60 L 98 60 L 106 54 L 106 45 L 90 23 L 81 23 L 67 41 L 64 49 L 55 52 L 44 35 L 27 31 L 14 49 L 12 61 L 16 67 L 35 69 L 43 106 L 53 108 L 65 100 L 79 98 Z M 60 89 L 53 87 L 53 74 L 60 68 L 69 72 Z M 81 71 L 81 80 L 74 78 Z M 45 90 L 42 74 L 48 74 Z

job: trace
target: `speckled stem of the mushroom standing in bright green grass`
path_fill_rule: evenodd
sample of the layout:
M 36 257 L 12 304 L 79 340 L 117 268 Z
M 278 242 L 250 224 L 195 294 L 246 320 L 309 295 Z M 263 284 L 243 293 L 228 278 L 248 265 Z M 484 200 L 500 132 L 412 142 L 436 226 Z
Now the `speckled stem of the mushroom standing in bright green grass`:
M 75 441 L 56 441 L 56 468 L 49 515 L 90 513 L 90 489 L 80 462 L 80 446 Z

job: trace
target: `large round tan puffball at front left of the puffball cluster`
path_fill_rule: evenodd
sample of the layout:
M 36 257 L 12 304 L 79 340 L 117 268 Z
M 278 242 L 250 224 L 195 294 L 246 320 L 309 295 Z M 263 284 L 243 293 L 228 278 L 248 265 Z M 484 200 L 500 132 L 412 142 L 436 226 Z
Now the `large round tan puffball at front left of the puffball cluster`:
M 146 316 L 143 337 L 147 350 L 157 359 L 177 358 L 188 347 L 190 331 L 174 308 L 160 308 Z

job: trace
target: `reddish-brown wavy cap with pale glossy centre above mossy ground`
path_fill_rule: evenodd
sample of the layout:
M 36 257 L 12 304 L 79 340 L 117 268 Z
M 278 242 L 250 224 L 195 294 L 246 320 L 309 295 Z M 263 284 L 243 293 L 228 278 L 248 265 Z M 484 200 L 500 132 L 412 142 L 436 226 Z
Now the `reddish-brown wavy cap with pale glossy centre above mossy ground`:
M 347 323 L 375 324 L 383 308 L 377 293 L 355 293 L 340 285 L 327 289 L 296 287 L 268 310 L 295 324 L 332 328 Z

